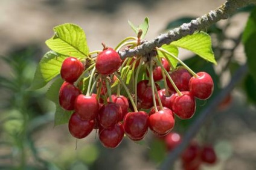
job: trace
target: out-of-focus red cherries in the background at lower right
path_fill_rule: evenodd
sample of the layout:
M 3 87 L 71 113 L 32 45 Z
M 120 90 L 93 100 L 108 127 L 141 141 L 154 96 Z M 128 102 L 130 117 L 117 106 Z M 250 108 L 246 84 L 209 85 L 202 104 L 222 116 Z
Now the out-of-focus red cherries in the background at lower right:
M 168 133 L 164 136 L 164 143 L 168 151 L 176 148 L 182 141 L 179 133 Z M 184 170 L 196 170 L 205 163 L 214 165 L 217 162 L 217 155 L 212 145 L 199 145 L 198 142 L 192 141 L 181 154 L 182 168 Z

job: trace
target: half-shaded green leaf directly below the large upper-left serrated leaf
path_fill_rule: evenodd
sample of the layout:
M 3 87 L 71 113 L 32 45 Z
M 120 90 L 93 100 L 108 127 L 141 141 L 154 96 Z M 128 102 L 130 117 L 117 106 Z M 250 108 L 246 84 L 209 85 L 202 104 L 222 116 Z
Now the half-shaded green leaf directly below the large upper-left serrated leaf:
M 28 90 L 45 87 L 50 80 L 60 74 L 60 68 L 65 58 L 66 56 L 58 55 L 56 52 L 47 52 L 37 65 L 34 79 Z

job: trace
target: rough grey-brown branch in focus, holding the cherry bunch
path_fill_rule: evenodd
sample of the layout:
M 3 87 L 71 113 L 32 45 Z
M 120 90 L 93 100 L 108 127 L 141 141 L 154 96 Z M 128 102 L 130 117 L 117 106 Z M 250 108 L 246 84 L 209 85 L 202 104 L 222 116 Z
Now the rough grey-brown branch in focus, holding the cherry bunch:
M 228 0 L 216 10 L 191 20 L 189 23 L 184 23 L 178 28 L 174 28 L 165 34 L 160 34 L 154 40 L 145 41 L 134 49 L 120 51 L 119 55 L 121 59 L 144 55 L 155 49 L 155 47 L 161 47 L 163 44 L 170 44 L 172 41 L 179 40 L 186 35 L 191 35 L 196 31 L 205 30 L 205 28 L 213 25 L 219 20 L 227 19 L 229 15 L 237 10 L 237 8 L 242 8 L 249 4 L 256 4 L 256 0 Z

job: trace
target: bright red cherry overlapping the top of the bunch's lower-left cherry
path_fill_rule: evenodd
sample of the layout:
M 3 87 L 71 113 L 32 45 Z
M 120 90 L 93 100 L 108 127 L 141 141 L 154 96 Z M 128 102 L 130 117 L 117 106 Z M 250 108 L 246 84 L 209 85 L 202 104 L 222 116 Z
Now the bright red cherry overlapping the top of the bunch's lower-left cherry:
M 96 94 L 85 96 L 80 94 L 75 99 L 75 112 L 82 120 L 93 120 L 97 117 L 99 111 L 98 100 Z

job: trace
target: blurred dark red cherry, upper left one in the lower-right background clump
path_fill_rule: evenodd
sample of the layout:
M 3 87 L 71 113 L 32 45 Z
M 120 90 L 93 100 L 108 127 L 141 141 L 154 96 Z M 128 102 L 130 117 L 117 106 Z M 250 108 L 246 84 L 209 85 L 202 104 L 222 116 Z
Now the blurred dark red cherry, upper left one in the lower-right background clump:
M 197 157 L 200 156 L 200 147 L 196 142 L 191 142 L 190 145 L 181 154 L 181 159 L 183 162 L 190 163 L 193 162 Z

